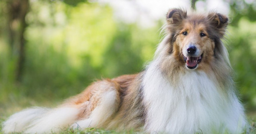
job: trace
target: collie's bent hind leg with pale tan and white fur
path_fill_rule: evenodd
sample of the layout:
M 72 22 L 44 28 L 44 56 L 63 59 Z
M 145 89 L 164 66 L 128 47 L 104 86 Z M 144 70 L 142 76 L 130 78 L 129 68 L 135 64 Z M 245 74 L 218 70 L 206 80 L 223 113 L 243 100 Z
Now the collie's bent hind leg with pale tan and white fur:
M 73 123 L 73 128 L 102 127 L 119 107 L 119 86 L 115 82 L 99 81 L 89 88 L 90 98 L 83 102 L 83 113 L 80 119 Z

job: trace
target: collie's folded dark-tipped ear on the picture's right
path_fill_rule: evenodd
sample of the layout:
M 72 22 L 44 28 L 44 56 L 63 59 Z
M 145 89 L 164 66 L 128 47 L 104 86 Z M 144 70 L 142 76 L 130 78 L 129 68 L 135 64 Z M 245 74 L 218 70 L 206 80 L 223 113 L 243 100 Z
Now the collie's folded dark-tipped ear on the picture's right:
M 211 24 L 216 28 L 226 28 L 228 25 L 228 18 L 223 14 L 209 13 L 208 19 L 211 21 Z

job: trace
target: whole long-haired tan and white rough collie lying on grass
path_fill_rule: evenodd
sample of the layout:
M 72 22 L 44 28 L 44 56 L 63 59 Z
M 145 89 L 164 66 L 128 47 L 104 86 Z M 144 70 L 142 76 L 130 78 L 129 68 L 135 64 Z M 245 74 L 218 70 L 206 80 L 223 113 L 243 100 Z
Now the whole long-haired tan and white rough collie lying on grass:
M 98 127 L 171 134 L 244 132 L 244 108 L 221 42 L 227 17 L 175 8 L 166 20 L 166 36 L 145 71 L 94 82 L 55 109 L 13 114 L 3 131 Z

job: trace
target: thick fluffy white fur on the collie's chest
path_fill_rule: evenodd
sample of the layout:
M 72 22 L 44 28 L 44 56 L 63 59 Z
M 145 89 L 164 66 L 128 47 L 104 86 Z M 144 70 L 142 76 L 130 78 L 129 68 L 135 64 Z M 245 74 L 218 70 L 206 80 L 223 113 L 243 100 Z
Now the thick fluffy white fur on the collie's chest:
M 246 125 L 234 92 L 221 92 L 215 78 L 187 70 L 173 86 L 156 66 L 149 66 L 143 80 L 147 109 L 145 130 L 167 133 L 240 133 Z

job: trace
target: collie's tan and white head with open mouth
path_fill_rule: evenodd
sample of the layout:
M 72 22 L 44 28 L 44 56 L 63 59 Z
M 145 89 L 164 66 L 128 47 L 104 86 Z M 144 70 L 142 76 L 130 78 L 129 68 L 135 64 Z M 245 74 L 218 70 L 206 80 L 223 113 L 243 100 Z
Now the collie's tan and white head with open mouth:
M 187 15 L 181 9 L 171 9 L 166 15 L 169 32 L 169 54 L 188 69 L 210 65 L 218 57 L 221 38 L 224 36 L 228 19 L 225 15 L 211 12 Z

